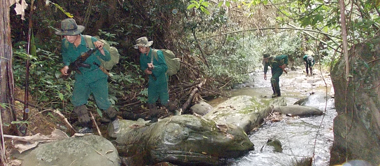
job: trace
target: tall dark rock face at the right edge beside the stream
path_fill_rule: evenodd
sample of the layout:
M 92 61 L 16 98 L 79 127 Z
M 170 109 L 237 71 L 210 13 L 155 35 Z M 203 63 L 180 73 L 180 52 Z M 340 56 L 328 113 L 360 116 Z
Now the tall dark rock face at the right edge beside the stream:
M 380 38 L 355 45 L 335 64 L 331 79 L 335 91 L 334 142 L 330 164 L 362 159 L 380 164 Z M 347 83 L 347 78 L 349 82 Z

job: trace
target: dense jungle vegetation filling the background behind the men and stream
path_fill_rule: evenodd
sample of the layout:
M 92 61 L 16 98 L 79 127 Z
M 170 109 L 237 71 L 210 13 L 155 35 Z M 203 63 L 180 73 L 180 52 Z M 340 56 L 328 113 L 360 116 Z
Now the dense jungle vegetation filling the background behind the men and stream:
M 68 17 L 86 27 L 82 34 L 98 35 L 118 48 L 120 62 L 111 70 L 110 97 L 119 111 L 136 113 L 146 111 L 147 97 L 147 78 L 133 48 L 139 37 L 149 37 L 153 48 L 173 50 L 181 59 L 179 73 L 170 77 L 170 98 L 187 112 L 195 101 L 227 96 L 225 91 L 246 81 L 249 73 L 261 72 L 264 52 L 286 54 L 293 66 L 301 65 L 304 52 L 311 50 L 320 66 L 330 68 L 345 48 L 378 35 L 380 26 L 380 3 L 369 0 L 19 3 L 28 4 L 25 15 L 15 12 L 23 5 L 9 8 L 15 87 L 21 92 L 28 88 L 34 108 L 58 109 L 69 120 L 75 80 L 58 78 L 61 36 L 54 33 Z M 24 96 L 15 100 L 23 103 Z M 89 108 L 101 115 L 91 99 Z

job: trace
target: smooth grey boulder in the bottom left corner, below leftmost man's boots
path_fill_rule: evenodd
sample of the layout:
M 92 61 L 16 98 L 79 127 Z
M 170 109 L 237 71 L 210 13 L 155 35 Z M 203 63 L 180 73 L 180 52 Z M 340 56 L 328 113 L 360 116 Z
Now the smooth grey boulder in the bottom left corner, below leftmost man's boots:
M 22 160 L 20 166 L 119 166 L 121 161 L 111 141 L 98 135 L 69 137 L 39 144 L 33 149 L 12 155 Z

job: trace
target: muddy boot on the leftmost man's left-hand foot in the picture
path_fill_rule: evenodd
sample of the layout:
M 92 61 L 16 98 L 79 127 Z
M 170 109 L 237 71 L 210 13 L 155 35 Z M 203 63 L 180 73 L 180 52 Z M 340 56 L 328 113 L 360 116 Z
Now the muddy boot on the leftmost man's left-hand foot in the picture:
M 92 134 L 92 123 L 90 116 L 85 105 L 81 105 L 74 108 L 74 112 L 78 115 L 79 126 L 82 128 L 78 130 L 78 134 Z

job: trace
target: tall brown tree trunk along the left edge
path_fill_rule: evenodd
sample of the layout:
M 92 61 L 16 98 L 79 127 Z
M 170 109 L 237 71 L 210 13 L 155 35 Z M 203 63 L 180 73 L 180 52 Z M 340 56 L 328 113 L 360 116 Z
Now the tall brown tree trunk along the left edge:
M 16 120 L 14 109 L 14 82 L 12 72 L 12 44 L 9 18 L 9 0 L 0 1 L 0 112 L 4 134 L 17 133 L 10 125 Z M 9 125 L 4 125 L 9 124 Z

